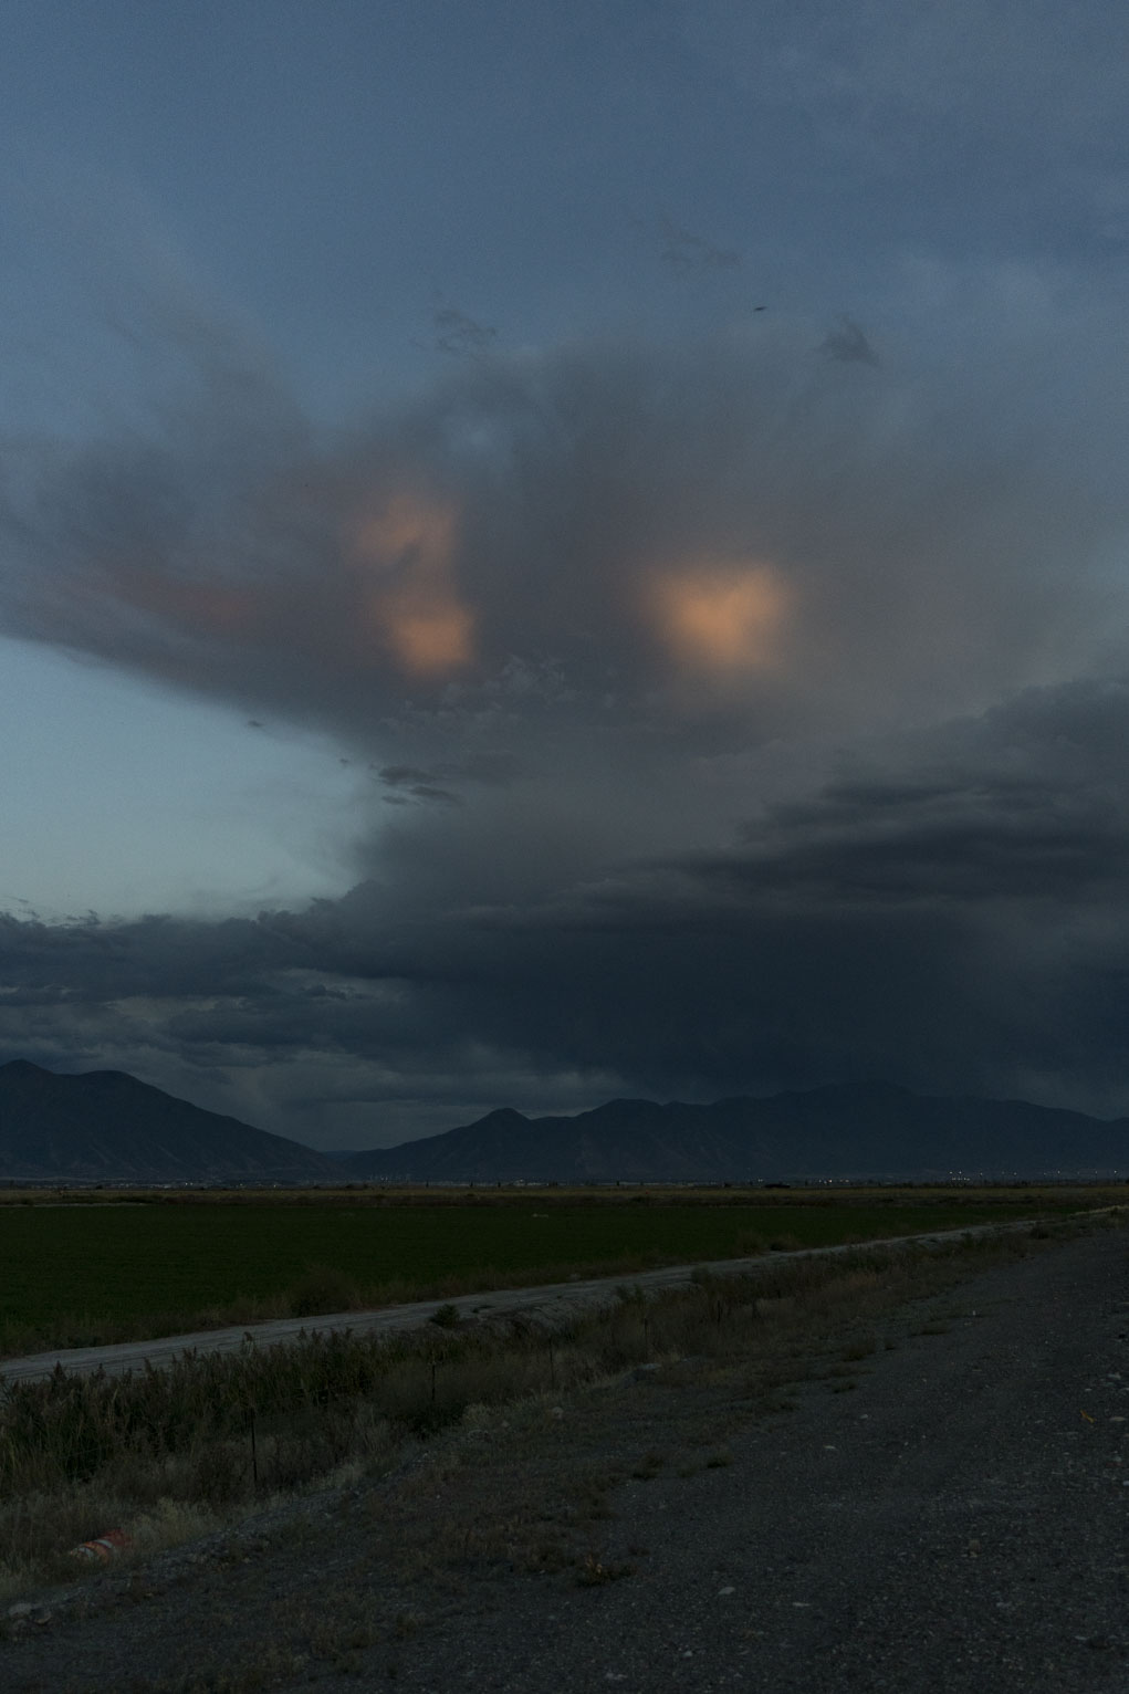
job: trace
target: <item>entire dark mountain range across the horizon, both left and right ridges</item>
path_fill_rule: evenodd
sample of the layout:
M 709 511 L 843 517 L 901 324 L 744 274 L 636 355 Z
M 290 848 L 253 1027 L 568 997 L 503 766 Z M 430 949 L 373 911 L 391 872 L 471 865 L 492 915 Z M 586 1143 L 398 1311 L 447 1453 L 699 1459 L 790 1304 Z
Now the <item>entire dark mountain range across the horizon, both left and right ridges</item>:
M 841 1082 L 697 1106 L 610 1099 L 575 1116 L 500 1108 L 371 1152 L 322 1154 L 124 1071 L 0 1066 L 0 1181 L 781 1182 L 817 1177 L 1122 1177 L 1129 1118 L 1022 1099 Z

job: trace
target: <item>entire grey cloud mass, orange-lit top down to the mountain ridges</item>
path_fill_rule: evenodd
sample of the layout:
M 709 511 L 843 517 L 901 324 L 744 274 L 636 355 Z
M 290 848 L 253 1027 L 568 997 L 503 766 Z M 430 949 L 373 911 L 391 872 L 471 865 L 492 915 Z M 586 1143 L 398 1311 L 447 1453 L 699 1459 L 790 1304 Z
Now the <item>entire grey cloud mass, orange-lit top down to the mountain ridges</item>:
M 1112 401 L 1068 322 L 1032 412 L 1027 330 L 481 357 L 332 442 L 210 340 L 161 429 L 8 454 L 8 632 L 327 728 L 373 806 L 341 901 L 3 920 L 3 1049 L 322 1145 L 865 1074 L 1127 1106 L 1126 512 L 1061 422 Z

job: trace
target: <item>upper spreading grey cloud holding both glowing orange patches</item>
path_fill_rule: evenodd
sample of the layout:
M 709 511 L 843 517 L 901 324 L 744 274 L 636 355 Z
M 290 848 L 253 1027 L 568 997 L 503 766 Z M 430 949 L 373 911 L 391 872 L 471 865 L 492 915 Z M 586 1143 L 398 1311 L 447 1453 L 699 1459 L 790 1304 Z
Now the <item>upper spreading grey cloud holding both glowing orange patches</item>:
M 24 452 L 0 620 L 334 735 L 351 869 L 403 906 L 549 900 L 726 840 L 829 739 L 1121 662 L 1124 490 L 1049 378 L 1041 439 L 1029 346 L 926 379 L 809 327 L 578 344 L 325 440 L 202 334 L 159 427 Z

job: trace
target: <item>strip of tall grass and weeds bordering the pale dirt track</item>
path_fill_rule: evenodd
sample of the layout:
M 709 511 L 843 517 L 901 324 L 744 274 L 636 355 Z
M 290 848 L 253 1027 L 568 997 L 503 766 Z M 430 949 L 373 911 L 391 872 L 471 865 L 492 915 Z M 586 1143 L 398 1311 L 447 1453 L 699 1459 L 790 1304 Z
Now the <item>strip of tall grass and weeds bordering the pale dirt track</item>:
M 982 1264 L 1024 1242 L 954 1245 Z M 198 1533 L 258 1503 L 393 1464 L 468 1408 L 564 1396 L 631 1365 L 756 1350 L 820 1301 L 909 1289 L 946 1255 L 859 1248 L 763 1262 L 756 1276 L 702 1274 L 688 1289 L 624 1293 L 609 1309 L 546 1328 L 429 1326 L 393 1338 L 312 1333 L 237 1355 L 185 1355 L 124 1377 L 56 1370 L 0 1392 L 0 1594 L 75 1577 L 78 1542 L 125 1528 L 139 1547 Z M 907 1281 L 909 1279 L 909 1281 Z

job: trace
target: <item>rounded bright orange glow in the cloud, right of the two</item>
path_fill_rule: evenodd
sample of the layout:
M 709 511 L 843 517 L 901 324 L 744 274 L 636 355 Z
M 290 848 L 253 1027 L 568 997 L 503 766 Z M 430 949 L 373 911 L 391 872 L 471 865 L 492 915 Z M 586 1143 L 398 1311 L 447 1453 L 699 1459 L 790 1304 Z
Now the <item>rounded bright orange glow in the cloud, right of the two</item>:
M 788 595 L 771 566 L 670 571 L 653 593 L 659 628 L 680 662 L 736 673 L 778 656 Z

